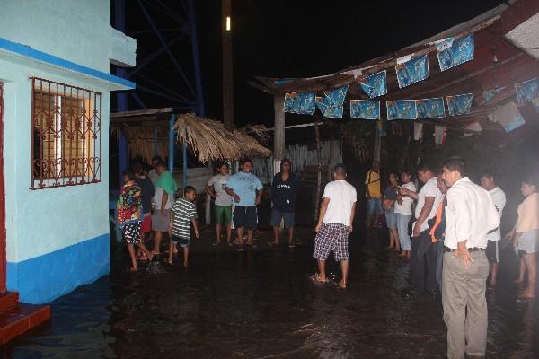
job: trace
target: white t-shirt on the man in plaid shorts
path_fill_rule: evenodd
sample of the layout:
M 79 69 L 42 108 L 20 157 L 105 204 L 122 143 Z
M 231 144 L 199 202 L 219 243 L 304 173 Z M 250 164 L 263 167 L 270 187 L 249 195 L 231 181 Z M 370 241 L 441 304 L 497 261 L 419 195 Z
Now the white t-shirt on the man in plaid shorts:
M 342 223 L 349 226 L 352 206 L 357 200 L 356 188 L 346 180 L 334 180 L 323 189 L 323 198 L 330 198 L 323 223 Z

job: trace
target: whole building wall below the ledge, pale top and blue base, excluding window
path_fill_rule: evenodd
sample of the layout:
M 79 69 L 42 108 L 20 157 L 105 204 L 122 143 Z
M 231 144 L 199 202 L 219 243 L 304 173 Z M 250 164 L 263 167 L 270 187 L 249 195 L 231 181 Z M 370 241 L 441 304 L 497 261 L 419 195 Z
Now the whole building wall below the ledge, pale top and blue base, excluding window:
M 31 81 L 102 92 L 101 182 L 31 190 Z M 22 302 L 49 302 L 110 271 L 109 92 L 0 60 L 4 83 L 7 287 Z

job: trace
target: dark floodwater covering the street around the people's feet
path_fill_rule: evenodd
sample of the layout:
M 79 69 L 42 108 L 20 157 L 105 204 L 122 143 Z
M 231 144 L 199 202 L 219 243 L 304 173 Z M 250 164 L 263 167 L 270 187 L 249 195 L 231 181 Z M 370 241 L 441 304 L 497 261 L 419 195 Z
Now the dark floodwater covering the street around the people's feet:
M 190 267 L 128 274 L 125 250 L 112 274 L 52 302 L 52 321 L 2 348 L 6 358 L 443 358 L 439 296 L 416 298 L 406 262 L 384 250 L 384 232 L 352 235 L 349 288 L 315 286 L 314 232 L 301 245 L 239 253 L 213 248 L 213 232 L 191 247 Z M 519 302 L 516 258 L 504 252 L 489 291 L 489 358 L 539 357 L 539 310 Z M 176 259 L 178 261 L 178 259 Z M 160 265 L 156 265 L 161 268 Z M 155 266 L 153 267 L 154 272 Z M 339 267 L 329 261 L 339 279 Z

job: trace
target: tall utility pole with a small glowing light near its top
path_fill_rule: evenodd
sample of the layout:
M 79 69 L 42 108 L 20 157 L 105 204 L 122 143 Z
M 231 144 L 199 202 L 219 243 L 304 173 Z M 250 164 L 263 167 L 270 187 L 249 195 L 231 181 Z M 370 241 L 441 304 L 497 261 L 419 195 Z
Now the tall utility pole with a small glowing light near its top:
M 223 13 L 223 118 L 234 129 L 234 72 L 232 63 L 232 0 L 222 1 Z

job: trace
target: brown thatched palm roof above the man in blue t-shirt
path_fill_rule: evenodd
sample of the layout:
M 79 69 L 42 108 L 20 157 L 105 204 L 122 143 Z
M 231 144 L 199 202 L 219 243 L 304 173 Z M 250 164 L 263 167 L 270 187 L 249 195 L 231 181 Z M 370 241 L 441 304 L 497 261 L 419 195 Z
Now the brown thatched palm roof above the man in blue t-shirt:
M 268 157 L 271 154 L 268 148 L 248 135 L 251 132 L 266 139 L 266 128 L 262 125 L 229 131 L 222 122 L 187 113 L 178 115 L 174 129 L 178 130 L 178 142 L 186 140 L 201 162 L 237 160 L 243 156 Z

